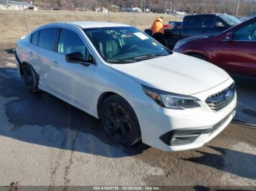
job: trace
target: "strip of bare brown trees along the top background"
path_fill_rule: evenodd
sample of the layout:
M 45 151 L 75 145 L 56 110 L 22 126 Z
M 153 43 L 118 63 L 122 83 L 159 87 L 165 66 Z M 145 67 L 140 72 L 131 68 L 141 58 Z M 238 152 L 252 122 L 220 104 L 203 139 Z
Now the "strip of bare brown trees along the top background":
M 31 0 L 19 0 L 31 1 Z M 255 0 L 32 0 L 39 7 L 47 9 L 80 9 L 94 10 L 105 7 L 110 11 L 118 11 L 118 7 L 139 7 L 150 9 L 151 12 L 184 11 L 188 14 L 227 13 L 230 15 L 249 16 L 256 12 Z

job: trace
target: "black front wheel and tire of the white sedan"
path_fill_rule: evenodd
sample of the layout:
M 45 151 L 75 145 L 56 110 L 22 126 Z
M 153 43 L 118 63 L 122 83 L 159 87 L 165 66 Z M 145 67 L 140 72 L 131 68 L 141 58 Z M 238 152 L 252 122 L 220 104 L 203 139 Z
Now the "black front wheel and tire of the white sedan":
M 132 107 L 119 95 L 110 95 L 100 107 L 106 133 L 119 144 L 131 146 L 141 139 L 140 125 Z

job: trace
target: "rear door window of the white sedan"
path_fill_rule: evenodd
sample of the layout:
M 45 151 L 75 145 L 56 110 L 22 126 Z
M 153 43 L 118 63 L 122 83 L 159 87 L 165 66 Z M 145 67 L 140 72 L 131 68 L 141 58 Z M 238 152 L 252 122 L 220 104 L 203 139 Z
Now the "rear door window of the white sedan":
M 38 46 L 47 50 L 54 50 L 59 28 L 45 28 L 40 31 Z

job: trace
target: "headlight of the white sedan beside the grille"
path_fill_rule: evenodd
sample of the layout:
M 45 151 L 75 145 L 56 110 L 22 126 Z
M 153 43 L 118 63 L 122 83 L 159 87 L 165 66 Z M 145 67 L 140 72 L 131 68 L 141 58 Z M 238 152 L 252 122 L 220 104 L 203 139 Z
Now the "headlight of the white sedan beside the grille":
M 189 95 L 168 93 L 145 85 L 142 85 L 142 87 L 146 95 L 154 99 L 160 106 L 171 109 L 187 109 L 200 106 L 200 104 L 198 104 L 200 100 Z

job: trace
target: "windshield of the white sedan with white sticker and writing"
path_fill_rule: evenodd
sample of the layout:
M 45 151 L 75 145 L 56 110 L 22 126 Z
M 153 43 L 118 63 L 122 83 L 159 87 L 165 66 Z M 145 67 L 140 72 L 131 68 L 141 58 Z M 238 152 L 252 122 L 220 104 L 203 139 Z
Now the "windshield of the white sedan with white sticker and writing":
M 171 53 L 134 27 L 84 28 L 83 31 L 108 63 L 131 63 Z

